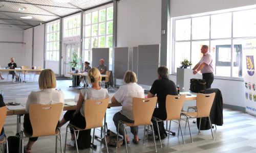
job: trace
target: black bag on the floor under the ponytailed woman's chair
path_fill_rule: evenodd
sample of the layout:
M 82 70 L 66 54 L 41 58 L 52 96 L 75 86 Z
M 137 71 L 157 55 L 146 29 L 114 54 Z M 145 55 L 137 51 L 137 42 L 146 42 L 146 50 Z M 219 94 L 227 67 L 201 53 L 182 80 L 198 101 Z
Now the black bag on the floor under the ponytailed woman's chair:
M 90 148 L 92 141 L 91 129 L 79 131 L 77 138 L 78 149 Z

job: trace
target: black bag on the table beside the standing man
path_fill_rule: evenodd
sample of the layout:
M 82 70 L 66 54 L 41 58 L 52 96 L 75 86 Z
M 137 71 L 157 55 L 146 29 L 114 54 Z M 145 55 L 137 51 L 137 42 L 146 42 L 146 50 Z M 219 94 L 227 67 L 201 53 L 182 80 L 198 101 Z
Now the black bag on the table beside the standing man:
M 206 89 L 206 82 L 204 79 L 190 79 L 190 91 L 203 93 Z

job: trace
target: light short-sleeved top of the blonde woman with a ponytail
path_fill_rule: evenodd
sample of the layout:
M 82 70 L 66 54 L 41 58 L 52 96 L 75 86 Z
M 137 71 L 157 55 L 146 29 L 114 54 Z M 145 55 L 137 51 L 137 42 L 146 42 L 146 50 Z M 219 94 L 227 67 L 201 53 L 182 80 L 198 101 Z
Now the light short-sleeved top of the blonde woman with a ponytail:
M 100 100 L 110 97 L 107 89 L 100 88 L 99 90 L 93 88 L 82 89 L 81 94 L 84 99 Z M 81 115 L 84 117 L 84 101 L 80 109 Z

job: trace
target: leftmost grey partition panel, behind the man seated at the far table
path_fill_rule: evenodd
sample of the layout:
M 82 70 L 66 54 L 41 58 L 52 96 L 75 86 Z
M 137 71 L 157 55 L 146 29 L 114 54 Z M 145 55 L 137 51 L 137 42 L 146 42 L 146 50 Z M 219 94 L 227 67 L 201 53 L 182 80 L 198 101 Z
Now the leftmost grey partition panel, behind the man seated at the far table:
M 104 64 L 106 65 L 107 70 L 109 70 L 110 62 L 110 48 L 92 48 L 92 66 L 99 66 L 99 60 L 103 59 Z

